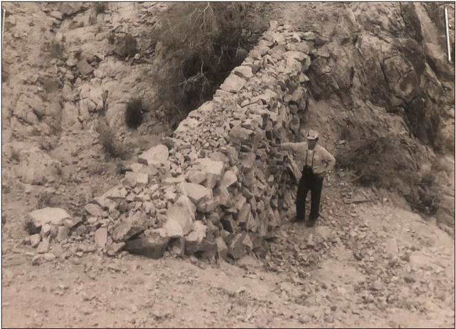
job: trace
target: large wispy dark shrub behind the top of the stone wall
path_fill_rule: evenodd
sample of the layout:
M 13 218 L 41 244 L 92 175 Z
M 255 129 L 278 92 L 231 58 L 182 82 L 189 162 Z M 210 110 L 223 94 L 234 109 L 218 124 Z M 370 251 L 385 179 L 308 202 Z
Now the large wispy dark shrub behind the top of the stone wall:
M 250 47 L 245 31 L 252 3 L 173 3 L 160 30 L 166 62 L 158 72 L 158 103 L 188 113 L 209 100 Z M 260 32 L 260 31 L 259 31 Z

